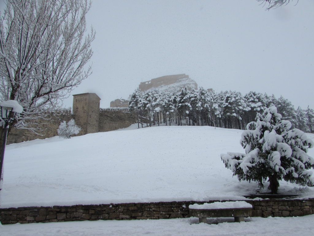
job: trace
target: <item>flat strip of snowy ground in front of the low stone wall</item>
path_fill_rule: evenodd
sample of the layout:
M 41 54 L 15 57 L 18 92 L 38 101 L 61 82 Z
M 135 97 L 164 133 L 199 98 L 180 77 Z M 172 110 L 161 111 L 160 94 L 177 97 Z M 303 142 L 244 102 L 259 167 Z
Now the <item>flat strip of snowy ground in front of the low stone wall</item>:
M 215 235 L 215 236 L 273 236 L 302 235 L 312 236 L 314 215 L 301 217 L 253 217 L 246 222 L 232 222 L 233 218 L 208 218 L 219 224 L 196 223 L 198 218 L 167 220 L 132 220 L 132 221 L 81 221 L 58 223 L 33 223 L 3 225 L 2 236 L 12 235 L 67 235 L 67 236 L 130 236 L 130 235 Z M 226 222 L 229 221 L 229 222 Z M 1 227 L 1 226 L 0 226 Z

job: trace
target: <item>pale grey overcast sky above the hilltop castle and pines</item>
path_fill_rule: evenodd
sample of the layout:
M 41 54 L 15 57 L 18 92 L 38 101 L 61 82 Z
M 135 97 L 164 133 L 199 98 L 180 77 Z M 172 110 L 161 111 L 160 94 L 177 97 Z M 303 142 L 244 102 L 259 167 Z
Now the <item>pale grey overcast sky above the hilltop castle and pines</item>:
M 295 3 L 266 11 L 254 0 L 94 0 L 93 74 L 71 95 L 97 93 L 106 108 L 141 81 L 185 73 L 217 92 L 273 93 L 314 108 L 314 1 Z

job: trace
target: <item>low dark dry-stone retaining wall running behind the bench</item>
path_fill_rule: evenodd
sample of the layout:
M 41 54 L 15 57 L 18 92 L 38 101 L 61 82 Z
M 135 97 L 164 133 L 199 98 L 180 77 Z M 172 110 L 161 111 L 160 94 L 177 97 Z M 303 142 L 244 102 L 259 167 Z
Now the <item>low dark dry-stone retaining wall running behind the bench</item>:
M 214 201 L 208 201 L 211 203 Z M 314 214 L 314 199 L 246 200 L 252 216 L 304 216 Z M 18 207 L 0 209 L 2 224 L 84 220 L 169 219 L 190 217 L 188 206 L 195 201 Z

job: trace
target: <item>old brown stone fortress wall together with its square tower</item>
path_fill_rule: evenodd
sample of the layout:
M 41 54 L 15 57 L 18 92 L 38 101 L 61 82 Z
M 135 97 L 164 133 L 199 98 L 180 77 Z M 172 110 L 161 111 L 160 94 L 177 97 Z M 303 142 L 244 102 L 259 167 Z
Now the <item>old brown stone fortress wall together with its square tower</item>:
M 36 121 L 41 124 L 38 134 L 27 129 L 12 128 L 7 144 L 57 136 L 60 123 L 71 119 L 82 128 L 78 135 L 126 128 L 137 121 L 136 114 L 128 109 L 100 109 L 100 98 L 95 93 L 73 95 L 73 113 L 63 110 L 59 114 L 51 113 L 48 118 Z

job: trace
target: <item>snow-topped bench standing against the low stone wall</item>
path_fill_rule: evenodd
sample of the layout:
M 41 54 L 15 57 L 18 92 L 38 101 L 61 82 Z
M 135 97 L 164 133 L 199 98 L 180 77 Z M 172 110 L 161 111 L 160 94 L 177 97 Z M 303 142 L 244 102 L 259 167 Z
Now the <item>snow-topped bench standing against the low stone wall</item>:
M 206 223 L 207 217 L 234 217 L 235 222 L 244 221 L 251 216 L 252 205 L 245 201 L 213 202 L 189 205 L 190 215 Z

